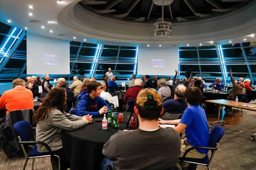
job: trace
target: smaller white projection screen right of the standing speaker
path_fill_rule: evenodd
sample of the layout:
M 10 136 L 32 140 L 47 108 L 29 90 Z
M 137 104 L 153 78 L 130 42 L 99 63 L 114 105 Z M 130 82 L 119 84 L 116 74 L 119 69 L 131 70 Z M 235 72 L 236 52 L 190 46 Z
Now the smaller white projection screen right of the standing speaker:
M 138 71 L 140 75 L 163 75 L 175 74 L 178 70 L 178 48 L 139 48 Z

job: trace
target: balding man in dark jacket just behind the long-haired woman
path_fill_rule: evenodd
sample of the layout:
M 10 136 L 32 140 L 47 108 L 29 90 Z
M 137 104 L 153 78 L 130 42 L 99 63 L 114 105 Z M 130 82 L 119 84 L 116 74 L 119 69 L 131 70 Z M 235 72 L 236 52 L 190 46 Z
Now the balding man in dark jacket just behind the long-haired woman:
M 71 88 L 67 87 L 66 79 L 64 78 L 58 78 L 57 80 L 57 86 L 60 88 L 64 88 L 67 92 L 67 108 L 65 110 L 66 113 L 69 113 L 70 109 L 72 108 L 72 103 L 74 100 L 74 94 Z

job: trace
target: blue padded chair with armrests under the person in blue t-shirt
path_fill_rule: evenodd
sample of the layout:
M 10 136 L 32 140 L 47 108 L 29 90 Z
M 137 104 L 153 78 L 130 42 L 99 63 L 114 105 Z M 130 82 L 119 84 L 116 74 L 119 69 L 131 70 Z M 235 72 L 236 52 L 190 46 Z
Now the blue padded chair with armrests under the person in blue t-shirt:
M 207 166 L 208 170 L 210 170 L 209 165 L 212 162 L 212 158 L 213 158 L 216 150 L 218 150 L 218 144 L 223 135 L 224 135 L 224 129 L 221 126 L 213 127 L 213 129 L 210 133 L 209 147 L 199 147 L 199 146 L 190 147 L 188 150 L 185 151 L 183 157 L 180 157 L 180 162 L 188 162 L 188 163 L 195 164 L 195 165 L 198 165 L 198 164 L 204 165 L 204 166 Z M 211 154 L 209 157 L 207 154 L 203 159 L 186 158 L 186 154 L 190 150 L 194 150 L 194 149 L 211 150 Z M 194 166 L 194 168 L 196 168 L 196 166 Z

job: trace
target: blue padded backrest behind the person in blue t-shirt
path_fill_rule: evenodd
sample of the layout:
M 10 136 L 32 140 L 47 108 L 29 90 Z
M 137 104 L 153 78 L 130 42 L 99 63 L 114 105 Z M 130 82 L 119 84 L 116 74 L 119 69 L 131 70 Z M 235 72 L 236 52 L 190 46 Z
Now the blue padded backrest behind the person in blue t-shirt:
M 224 135 L 223 127 L 221 126 L 213 127 L 210 133 L 209 147 L 216 147 L 223 135 Z

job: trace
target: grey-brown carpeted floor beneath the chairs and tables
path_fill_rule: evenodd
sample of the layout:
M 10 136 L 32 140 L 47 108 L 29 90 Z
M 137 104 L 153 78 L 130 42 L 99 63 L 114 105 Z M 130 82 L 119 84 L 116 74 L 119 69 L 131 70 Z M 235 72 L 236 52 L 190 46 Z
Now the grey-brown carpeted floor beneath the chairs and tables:
M 207 114 L 209 123 L 216 118 L 215 114 Z M 250 140 L 250 136 L 256 133 L 256 112 L 243 110 L 243 116 L 239 112 L 234 117 L 226 115 L 224 120 L 225 134 L 213 158 L 211 170 L 256 170 L 256 140 Z M 0 149 L 0 170 L 21 170 L 24 161 L 22 156 L 8 159 Z M 26 170 L 32 169 L 31 162 L 29 160 Z M 35 159 L 34 169 L 50 170 L 49 158 Z M 207 167 L 198 166 L 197 169 L 207 170 Z

